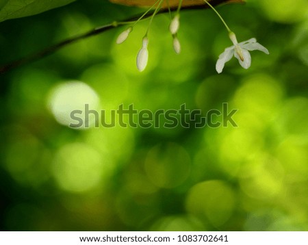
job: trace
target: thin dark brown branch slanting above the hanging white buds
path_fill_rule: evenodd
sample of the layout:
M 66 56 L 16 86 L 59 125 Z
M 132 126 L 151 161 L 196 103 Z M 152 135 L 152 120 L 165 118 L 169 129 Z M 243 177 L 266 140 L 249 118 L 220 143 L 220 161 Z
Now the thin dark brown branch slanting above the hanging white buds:
M 242 1 L 242 0 L 212 0 L 211 1 L 211 5 L 214 5 L 214 6 L 220 5 L 222 3 L 244 3 L 244 1 Z M 195 6 L 183 7 L 181 10 L 200 10 L 200 9 L 206 9 L 206 8 L 209 8 L 209 6 L 208 5 L 195 5 Z M 175 10 L 176 10 L 176 8 L 172 9 L 172 11 L 175 11 Z M 164 9 L 164 10 L 160 10 L 157 14 L 164 14 L 166 12 L 168 12 L 168 10 Z M 151 14 L 153 14 L 153 12 L 149 12 L 149 14 L 146 14 L 146 16 L 144 16 L 144 18 L 151 16 Z M 127 18 L 123 21 L 119 21 L 119 23 L 135 21 L 139 17 L 140 17 L 140 15 L 133 16 L 133 17 Z M 81 39 L 84 39 L 84 38 L 89 38 L 90 36 L 95 36 L 97 34 L 101 34 L 105 31 L 110 30 L 110 29 L 114 29 L 116 27 L 119 27 L 120 25 L 123 25 L 123 24 L 116 25 L 116 22 L 114 22 L 114 23 L 111 23 L 109 25 L 103 25 L 101 27 L 97 27 L 97 28 L 95 28 L 91 31 L 88 31 L 85 34 L 81 34 L 81 35 L 75 36 L 73 38 L 68 38 L 68 39 L 66 39 L 62 42 L 51 45 L 50 47 L 47 47 L 46 49 L 43 49 L 42 51 L 39 51 L 38 53 L 28 55 L 28 56 L 23 57 L 19 60 L 16 60 L 16 61 L 11 62 L 9 64 L 5 64 L 4 66 L 1 66 L 0 67 L 0 74 L 6 73 L 9 70 L 12 70 L 13 68 L 16 68 L 18 66 L 22 66 L 23 64 L 29 64 L 30 62 L 40 60 L 41 58 L 46 57 L 47 55 L 51 55 L 52 53 L 55 53 L 55 51 L 62 49 L 62 47 L 65 47 L 68 44 L 71 44 L 73 42 L 77 42 L 78 40 L 81 40 Z

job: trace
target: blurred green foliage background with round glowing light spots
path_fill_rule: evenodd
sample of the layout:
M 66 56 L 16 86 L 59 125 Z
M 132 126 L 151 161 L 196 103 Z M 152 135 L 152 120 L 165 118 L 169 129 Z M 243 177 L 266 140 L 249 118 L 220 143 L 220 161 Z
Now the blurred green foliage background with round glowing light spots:
M 181 55 L 168 14 L 155 18 L 143 73 L 148 21 L 124 44 L 120 27 L 1 75 L 1 231 L 307 231 L 307 1 L 247 2 L 217 9 L 239 41 L 270 51 L 251 52 L 248 70 L 233 58 L 216 73 L 227 31 L 213 11 L 192 10 L 181 13 Z M 4 21 L 1 64 L 142 11 L 76 1 Z M 229 103 L 238 127 L 66 127 L 65 112 L 85 102 L 153 112 Z

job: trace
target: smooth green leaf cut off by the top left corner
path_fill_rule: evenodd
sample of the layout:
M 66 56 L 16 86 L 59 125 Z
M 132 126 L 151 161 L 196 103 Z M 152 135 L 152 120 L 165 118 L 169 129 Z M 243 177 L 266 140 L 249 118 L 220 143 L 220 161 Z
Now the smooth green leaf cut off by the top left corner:
M 0 0 L 0 22 L 40 14 L 75 0 Z

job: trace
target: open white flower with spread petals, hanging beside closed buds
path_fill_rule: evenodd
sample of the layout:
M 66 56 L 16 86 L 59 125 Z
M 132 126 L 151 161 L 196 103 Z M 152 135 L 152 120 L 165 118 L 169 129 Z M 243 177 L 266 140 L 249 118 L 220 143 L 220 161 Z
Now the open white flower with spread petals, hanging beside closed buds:
M 229 62 L 233 55 L 238 59 L 243 68 L 248 69 L 251 66 L 251 54 L 248 51 L 259 50 L 269 54 L 268 49 L 259 44 L 255 38 L 238 43 L 233 32 L 229 34 L 229 38 L 233 42 L 233 46 L 224 49 L 224 52 L 219 55 L 218 61 L 216 62 L 216 70 L 218 73 L 222 72 L 224 64 Z

